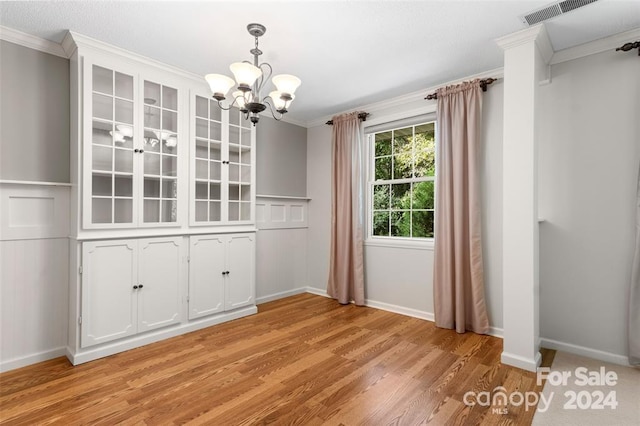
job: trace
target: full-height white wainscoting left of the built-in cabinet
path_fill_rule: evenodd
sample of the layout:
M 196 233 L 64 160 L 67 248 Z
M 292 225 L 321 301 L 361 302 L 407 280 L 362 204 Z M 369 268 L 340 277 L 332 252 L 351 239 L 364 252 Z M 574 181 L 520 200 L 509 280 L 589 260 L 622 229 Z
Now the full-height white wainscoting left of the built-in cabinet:
M 0 371 L 64 355 L 70 189 L 0 182 Z

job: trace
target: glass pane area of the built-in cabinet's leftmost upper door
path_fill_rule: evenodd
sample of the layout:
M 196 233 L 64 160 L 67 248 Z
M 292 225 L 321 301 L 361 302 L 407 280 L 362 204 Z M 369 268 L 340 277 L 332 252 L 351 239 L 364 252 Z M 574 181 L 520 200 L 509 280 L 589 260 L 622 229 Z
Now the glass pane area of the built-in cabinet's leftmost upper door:
M 86 98 L 89 141 L 85 141 L 85 223 L 133 224 L 134 210 L 134 93 L 132 75 L 88 64 Z M 87 158 L 89 157 L 89 158 Z M 86 199 L 86 198 L 85 198 Z

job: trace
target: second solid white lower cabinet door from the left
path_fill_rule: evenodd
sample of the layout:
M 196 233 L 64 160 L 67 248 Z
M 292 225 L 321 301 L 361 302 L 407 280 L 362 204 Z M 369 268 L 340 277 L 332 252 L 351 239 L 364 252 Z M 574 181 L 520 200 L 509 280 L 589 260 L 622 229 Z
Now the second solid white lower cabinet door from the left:
M 180 322 L 181 244 L 182 238 L 152 238 L 139 242 L 139 332 Z

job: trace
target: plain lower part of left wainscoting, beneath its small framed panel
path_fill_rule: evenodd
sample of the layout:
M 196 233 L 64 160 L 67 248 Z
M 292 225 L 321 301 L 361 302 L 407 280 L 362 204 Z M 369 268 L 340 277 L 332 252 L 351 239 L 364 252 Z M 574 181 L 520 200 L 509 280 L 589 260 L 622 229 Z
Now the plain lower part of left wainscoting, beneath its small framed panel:
M 0 241 L 0 371 L 64 354 L 68 287 L 67 238 Z

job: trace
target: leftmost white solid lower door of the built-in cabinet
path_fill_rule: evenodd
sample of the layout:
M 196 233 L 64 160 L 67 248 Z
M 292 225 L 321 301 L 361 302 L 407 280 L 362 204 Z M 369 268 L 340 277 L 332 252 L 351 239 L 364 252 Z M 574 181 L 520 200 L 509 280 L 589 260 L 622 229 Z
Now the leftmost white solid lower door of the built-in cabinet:
M 136 244 L 121 240 L 82 245 L 82 347 L 136 333 Z

